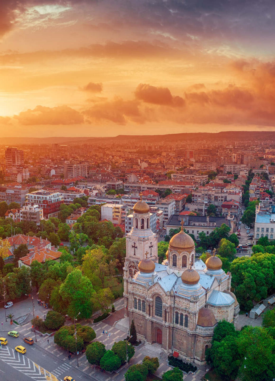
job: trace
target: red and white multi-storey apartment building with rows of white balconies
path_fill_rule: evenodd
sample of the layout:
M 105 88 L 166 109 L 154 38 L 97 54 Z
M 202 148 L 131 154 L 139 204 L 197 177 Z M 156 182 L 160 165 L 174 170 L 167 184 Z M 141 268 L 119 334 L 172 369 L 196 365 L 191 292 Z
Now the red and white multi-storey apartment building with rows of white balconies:
M 36 204 L 41 207 L 45 219 L 57 217 L 60 205 L 64 203 L 63 196 L 60 192 L 50 192 L 44 189 L 28 193 L 26 197 L 26 205 Z

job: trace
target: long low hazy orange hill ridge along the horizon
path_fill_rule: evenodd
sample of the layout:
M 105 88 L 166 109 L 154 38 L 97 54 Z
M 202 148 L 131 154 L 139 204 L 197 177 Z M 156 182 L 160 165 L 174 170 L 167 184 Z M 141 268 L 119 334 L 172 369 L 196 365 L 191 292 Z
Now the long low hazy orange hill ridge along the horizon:
M 51 138 L 1 138 L 2 145 L 20 144 L 92 144 L 100 141 L 146 141 L 146 142 L 173 142 L 186 140 L 213 140 L 233 141 L 275 141 L 275 131 L 223 131 L 217 133 L 180 133 L 165 135 L 118 135 L 110 137 L 51 137 Z

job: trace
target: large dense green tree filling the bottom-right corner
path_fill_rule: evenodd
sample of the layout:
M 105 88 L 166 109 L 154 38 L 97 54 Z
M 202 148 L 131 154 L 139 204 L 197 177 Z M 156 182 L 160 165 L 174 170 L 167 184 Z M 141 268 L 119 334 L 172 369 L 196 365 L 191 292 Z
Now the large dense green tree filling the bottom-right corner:
M 238 336 L 245 381 L 272 380 L 275 374 L 274 339 L 262 327 L 245 327 Z

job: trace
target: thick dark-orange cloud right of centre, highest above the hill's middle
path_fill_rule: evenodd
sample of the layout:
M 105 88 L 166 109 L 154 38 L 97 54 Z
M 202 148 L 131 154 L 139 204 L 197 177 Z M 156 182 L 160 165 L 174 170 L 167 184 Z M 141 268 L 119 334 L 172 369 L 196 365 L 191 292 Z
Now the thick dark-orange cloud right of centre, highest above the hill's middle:
M 156 87 L 140 83 L 135 90 L 135 97 L 147 103 L 178 107 L 184 106 L 184 99 L 180 96 L 173 97 L 167 87 Z

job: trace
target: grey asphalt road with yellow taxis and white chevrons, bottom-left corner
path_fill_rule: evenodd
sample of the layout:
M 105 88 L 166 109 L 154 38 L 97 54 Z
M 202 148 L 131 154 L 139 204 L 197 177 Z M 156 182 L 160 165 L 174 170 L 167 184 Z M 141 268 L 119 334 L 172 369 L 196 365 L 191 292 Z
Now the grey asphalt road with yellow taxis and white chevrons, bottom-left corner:
M 23 336 L 13 338 L 6 333 L 1 333 L 8 339 L 8 344 L 2 345 L 0 349 L 0 378 L 13 381 L 57 381 L 63 380 L 65 376 L 72 376 L 79 380 L 91 380 L 93 377 L 83 373 L 76 367 L 65 362 L 56 355 L 41 348 L 36 343 L 29 346 L 24 343 Z M 27 349 L 23 355 L 14 350 L 17 345 Z

